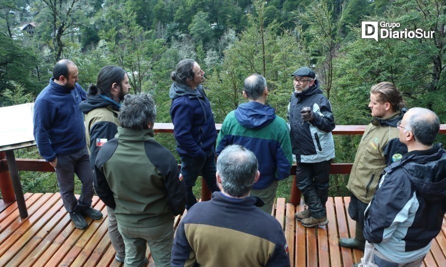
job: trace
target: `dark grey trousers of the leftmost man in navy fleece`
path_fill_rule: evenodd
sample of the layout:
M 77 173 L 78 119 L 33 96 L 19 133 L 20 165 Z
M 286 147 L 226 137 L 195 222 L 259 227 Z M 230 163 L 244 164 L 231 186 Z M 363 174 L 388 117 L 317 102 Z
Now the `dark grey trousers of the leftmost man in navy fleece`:
M 62 201 L 68 212 L 79 211 L 91 206 L 94 194 L 93 170 L 87 146 L 69 155 L 57 155 L 56 176 Z M 74 174 L 82 183 L 79 200 L 74 196 Z

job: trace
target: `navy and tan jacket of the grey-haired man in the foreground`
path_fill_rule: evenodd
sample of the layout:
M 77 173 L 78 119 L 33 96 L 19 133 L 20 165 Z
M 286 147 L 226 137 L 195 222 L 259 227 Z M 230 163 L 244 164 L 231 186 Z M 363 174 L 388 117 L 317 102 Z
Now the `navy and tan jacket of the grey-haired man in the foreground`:
M 282 226 L 258 201 L 214 192 L 193 205 L 176 230 L 171 266 L 290 266 Z

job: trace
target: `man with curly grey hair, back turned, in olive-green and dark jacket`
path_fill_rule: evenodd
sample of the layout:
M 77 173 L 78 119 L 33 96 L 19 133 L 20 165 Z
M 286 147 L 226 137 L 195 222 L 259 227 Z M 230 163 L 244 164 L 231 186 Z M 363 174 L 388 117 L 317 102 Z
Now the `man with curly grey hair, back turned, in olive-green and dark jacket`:
M 184 211 L 185 183 L 172 153 L 153 139 L 155 117 L 149 94 L 126 95 L 121 127 L 95 161 L 95 190 L 115 211 L 125 266 L 144 263 L 146 243 L 156 266 L 170 266 L 173 217 Z

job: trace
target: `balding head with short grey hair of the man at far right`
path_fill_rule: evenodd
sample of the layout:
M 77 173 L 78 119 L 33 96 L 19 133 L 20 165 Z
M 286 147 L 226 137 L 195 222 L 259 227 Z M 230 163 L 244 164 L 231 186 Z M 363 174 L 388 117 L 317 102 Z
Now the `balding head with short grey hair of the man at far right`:
M 425 108 L 411 108 L 403 117 L 416 142 L 431 146 L 440 130 L 440 120 L 435 112 Z

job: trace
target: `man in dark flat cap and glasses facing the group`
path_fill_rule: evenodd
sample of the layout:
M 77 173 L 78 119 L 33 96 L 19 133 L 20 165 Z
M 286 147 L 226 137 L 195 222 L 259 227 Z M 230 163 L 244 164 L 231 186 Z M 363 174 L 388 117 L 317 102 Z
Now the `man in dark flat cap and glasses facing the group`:
M 288 105 L 291 145 L 296 155 L 296 183 L 308 208 L 294 216 L 305 227 L 328 223 L 325 203 L 335 128 L 330 101 L 319 88 L 313 70 L 302 67 L 293 76 L 294 93 Z

